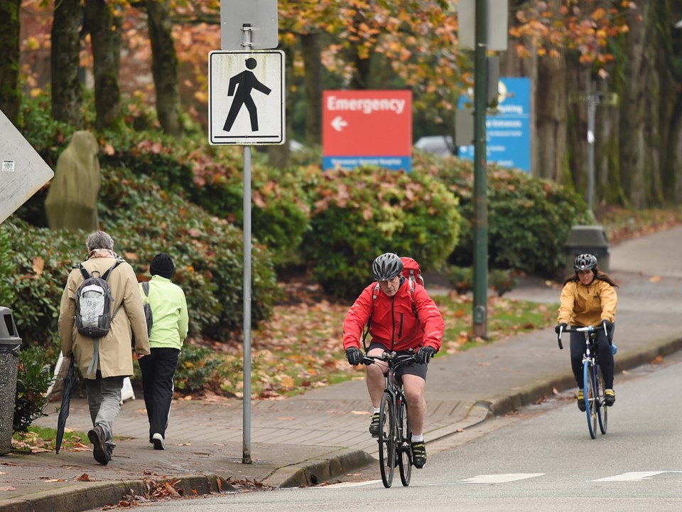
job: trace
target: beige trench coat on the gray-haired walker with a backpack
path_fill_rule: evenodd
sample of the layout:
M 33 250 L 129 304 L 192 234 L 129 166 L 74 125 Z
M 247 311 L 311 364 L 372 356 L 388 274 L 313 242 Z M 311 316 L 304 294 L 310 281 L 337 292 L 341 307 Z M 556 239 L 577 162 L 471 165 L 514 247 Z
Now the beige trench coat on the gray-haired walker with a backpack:
M 90 274 L 97 270 L 104 275 L 104 272 L 107 272 L 115 261 L 113 257 L 97 257 L 87 260 L 83 266 Z M 92 375 L 85 375 L 92 362 L 94 340 L 78 334 L 75 326 L 75 296 L 82 282 L 83 276 L 80 270 L 73 269 L 69 274 L 59 308 L 59 338 L 64 356 L 73 353 L 83 376 L 94 379 L 96 372 L 92 372 Z M 102 377 L 133 375 L 131 328 L 135 333 L 135 351 L 145 355 L 149 353 L 147 324 L 137 277 L 133 267 L 122 262 L 109 275 L 107 282 L 114 297 L 112 314 L 119 304 L 123 303 L 123 306 L 114 316 L 107 336 L 99 339 L 99 369 L 102 370 Z

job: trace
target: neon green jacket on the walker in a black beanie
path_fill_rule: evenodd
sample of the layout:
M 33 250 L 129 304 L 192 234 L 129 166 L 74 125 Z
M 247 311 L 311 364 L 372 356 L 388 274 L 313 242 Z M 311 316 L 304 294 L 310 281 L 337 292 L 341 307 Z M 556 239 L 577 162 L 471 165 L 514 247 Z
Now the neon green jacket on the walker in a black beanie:
M 149 282 L 149 297 L 144 298 L 142 284 L 139 285 L 142 301 L 151 306 L 153 323 L 149 335 L 149 348 L 183 347 L 187 337 L 189 316 L 185 292 L 171 279 L 154 275 Z

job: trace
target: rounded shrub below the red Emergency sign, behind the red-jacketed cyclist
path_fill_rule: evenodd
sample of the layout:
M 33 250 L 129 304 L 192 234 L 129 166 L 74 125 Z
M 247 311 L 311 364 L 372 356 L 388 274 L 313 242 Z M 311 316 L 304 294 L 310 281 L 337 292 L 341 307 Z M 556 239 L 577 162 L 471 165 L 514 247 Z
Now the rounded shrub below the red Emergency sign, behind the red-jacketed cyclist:
M 426 174 L 364 168 L 309 178 L 314 205 L 301 250 L 315 279 L 335 297 L 357 297 L 382 252 L 411 256 L 428 270 L 455 247 L 457 201 Z

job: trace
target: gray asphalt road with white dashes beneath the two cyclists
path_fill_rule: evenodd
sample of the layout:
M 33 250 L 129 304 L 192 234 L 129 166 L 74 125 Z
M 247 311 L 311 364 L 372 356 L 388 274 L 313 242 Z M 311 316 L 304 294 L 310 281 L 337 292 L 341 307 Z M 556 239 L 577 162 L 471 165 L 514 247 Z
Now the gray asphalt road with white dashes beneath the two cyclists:
M 445 440 L 411 486 L 379 479 L 151 503 L 154 512 L 682 510 L 682 355 L 619 379 L 606 435 L 591 439 L 585 415 L 559 395 L 487 422 L 459 446 Z M 371 474 L 371 471 L 370 473 Z

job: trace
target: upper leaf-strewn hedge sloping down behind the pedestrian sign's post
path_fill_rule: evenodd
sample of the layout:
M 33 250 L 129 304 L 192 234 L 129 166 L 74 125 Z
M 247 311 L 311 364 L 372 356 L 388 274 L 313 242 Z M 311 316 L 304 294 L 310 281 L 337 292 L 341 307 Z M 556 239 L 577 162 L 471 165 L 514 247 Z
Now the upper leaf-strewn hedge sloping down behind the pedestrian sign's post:
M 178 144 L 156 132 L 107 134 L 109 154 L 103 166 L 124 166 L 148 176 L 166 191 L 185 196 L 208 213 L 242 227 L 244 186 L 242 157 L 232 148 L 205 147 L 183 138 Z M 308 205 L 296 169 L 270 169 L 254 159 L 251 169 L 251 232 L 271 250 L 274 265 L 298 260 L 298 245 L 308 229 Z

